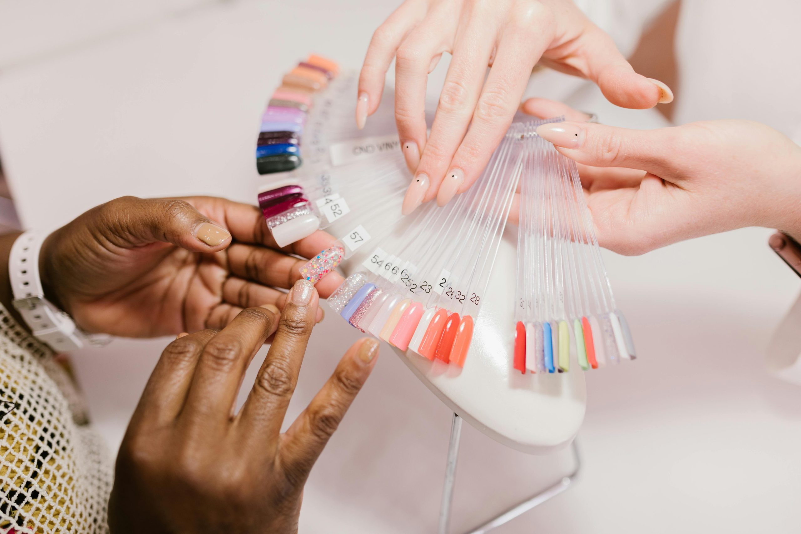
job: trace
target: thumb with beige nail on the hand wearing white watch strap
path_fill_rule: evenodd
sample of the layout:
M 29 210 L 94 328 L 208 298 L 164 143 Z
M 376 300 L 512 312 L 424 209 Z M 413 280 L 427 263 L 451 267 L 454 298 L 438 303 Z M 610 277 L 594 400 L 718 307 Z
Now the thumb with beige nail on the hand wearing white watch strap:
M 171 243 L 193 252 L 217 252 L 231 243 L 231 233 L 182 199 L 111 200 L 98 208 L 99 230 L 119 247 Z

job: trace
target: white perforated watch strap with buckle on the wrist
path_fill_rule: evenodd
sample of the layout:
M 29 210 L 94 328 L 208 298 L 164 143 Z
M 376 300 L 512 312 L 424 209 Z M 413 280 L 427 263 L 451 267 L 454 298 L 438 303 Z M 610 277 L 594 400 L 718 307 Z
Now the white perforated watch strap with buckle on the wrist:
M 8 270 L 14 307 L 34 337 L 54 351 L 74 351 L 83 347 L 84 337 L 69 315 L 45 299 L 39 278 L 39 251 L 45 238 L 46 234 L 26 231 L 11 247 Z

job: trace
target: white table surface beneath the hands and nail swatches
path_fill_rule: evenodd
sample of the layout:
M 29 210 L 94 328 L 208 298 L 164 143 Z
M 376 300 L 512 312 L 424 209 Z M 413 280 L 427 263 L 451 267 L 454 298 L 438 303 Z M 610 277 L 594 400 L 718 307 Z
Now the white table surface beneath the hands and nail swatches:
M 23 3 L 0 0 L 0 154 L 28 227 L 119 195 L 252 201 L 253 135 L 281 71 L 314 51 L 357 66 L 391 9 L 364 0 L 85 0 L 74 11 Z M 605 122 L 660 124 L 575 88 L 549 78 L 529 92 L 570 96 Z M 580 483 L 497 532 L 797 531 L 801 389 L 767 376 L 763 353 L 801 284 L 768 250 L 769 233 L 638 258 L 605 253 L 640 357 L 586 375 Z M 340 357 L 329 347 L 356 339 L 332 319 L 312 336 L 290 416 Z M 76 355 L 111 447 L 165 342 L 117 340 Z M 312 472 L 300 531 L 434 532 L 449 424 L 448 409 L 384 350 Z M 567 453 L 526 456 L 465 426 L 453 532 L 569 470 Z

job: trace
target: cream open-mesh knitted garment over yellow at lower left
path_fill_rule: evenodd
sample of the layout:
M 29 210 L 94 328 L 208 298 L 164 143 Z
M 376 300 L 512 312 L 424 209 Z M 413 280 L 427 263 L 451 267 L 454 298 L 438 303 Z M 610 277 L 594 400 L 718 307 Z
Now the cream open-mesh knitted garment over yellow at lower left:
M 0 532 L 108 532 L 111 458 L 58 360 L 0 305 Z

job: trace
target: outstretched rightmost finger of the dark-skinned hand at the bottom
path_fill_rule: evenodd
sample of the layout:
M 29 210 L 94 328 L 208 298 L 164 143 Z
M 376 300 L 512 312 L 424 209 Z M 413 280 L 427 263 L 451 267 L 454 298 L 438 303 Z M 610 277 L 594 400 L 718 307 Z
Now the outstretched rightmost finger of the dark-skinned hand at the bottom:
M 289 480 L 303 484 L 325 444 L 376 365 L 378 342 L 360 339 L 283 436 L 280 459 Z

